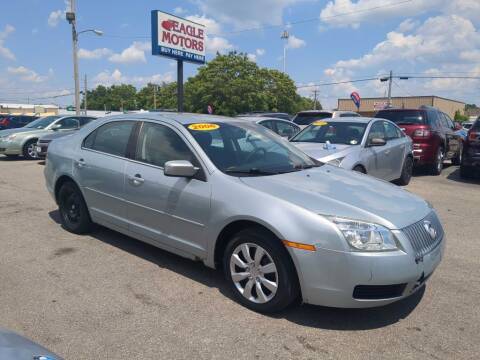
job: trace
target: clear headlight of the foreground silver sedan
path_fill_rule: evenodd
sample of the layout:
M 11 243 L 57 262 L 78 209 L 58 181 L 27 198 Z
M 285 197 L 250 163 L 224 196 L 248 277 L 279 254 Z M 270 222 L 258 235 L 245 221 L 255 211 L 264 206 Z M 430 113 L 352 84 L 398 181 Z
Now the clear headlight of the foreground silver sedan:
M 337 226 L 348 244 L 356 250 L 385 251 L 397 249 L 394 235 L 382 225 L 339 217 L 329 217 L 328 219 Z

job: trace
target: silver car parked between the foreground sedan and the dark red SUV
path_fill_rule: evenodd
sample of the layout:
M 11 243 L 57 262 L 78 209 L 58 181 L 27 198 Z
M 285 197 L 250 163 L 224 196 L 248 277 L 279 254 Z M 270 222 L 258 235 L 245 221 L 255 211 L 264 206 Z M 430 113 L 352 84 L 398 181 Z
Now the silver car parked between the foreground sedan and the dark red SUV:
M 317 120 L 290 141 L 311 157 L 344 169 L 399 185 L 407 185 L 412 177 L 412 141 L 388 120 Z

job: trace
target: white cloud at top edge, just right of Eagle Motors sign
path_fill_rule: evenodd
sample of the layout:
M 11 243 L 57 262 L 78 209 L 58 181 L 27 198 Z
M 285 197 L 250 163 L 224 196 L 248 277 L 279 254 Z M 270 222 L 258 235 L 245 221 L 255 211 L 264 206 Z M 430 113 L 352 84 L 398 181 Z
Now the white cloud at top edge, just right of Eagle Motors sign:
M 237 29 L 259 25 L 280 25 L 282 15 L 290 5 L 302 0 L 199 0 L 200 9 L 221 23 Z

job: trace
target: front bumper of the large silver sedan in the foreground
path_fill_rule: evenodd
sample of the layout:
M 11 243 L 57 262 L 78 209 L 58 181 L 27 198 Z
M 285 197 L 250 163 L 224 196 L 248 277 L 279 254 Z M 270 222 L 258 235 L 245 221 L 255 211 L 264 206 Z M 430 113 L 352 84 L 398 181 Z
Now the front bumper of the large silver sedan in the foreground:
M 401 232 L 396 236 L 399 239 L 403 236 L 400 241 L 403 250 L 365 253 L 289 248 L 299 272 L 303 301 L 366 308 L 390 304 L 413 294 L 440 263 L 445 236 L 422 259 L 416 259 L 415 251 Z

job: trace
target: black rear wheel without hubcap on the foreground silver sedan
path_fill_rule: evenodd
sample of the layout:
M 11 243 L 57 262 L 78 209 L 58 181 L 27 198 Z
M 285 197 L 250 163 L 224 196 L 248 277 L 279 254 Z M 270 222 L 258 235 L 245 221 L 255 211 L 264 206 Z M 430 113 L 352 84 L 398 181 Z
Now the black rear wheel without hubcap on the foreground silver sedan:
M 92 230 L 93 223 L 80 189 L 73 182 L 64 183 L 58 191 L 58 208 L 62 226 L 74 233 L 85 234 Z

